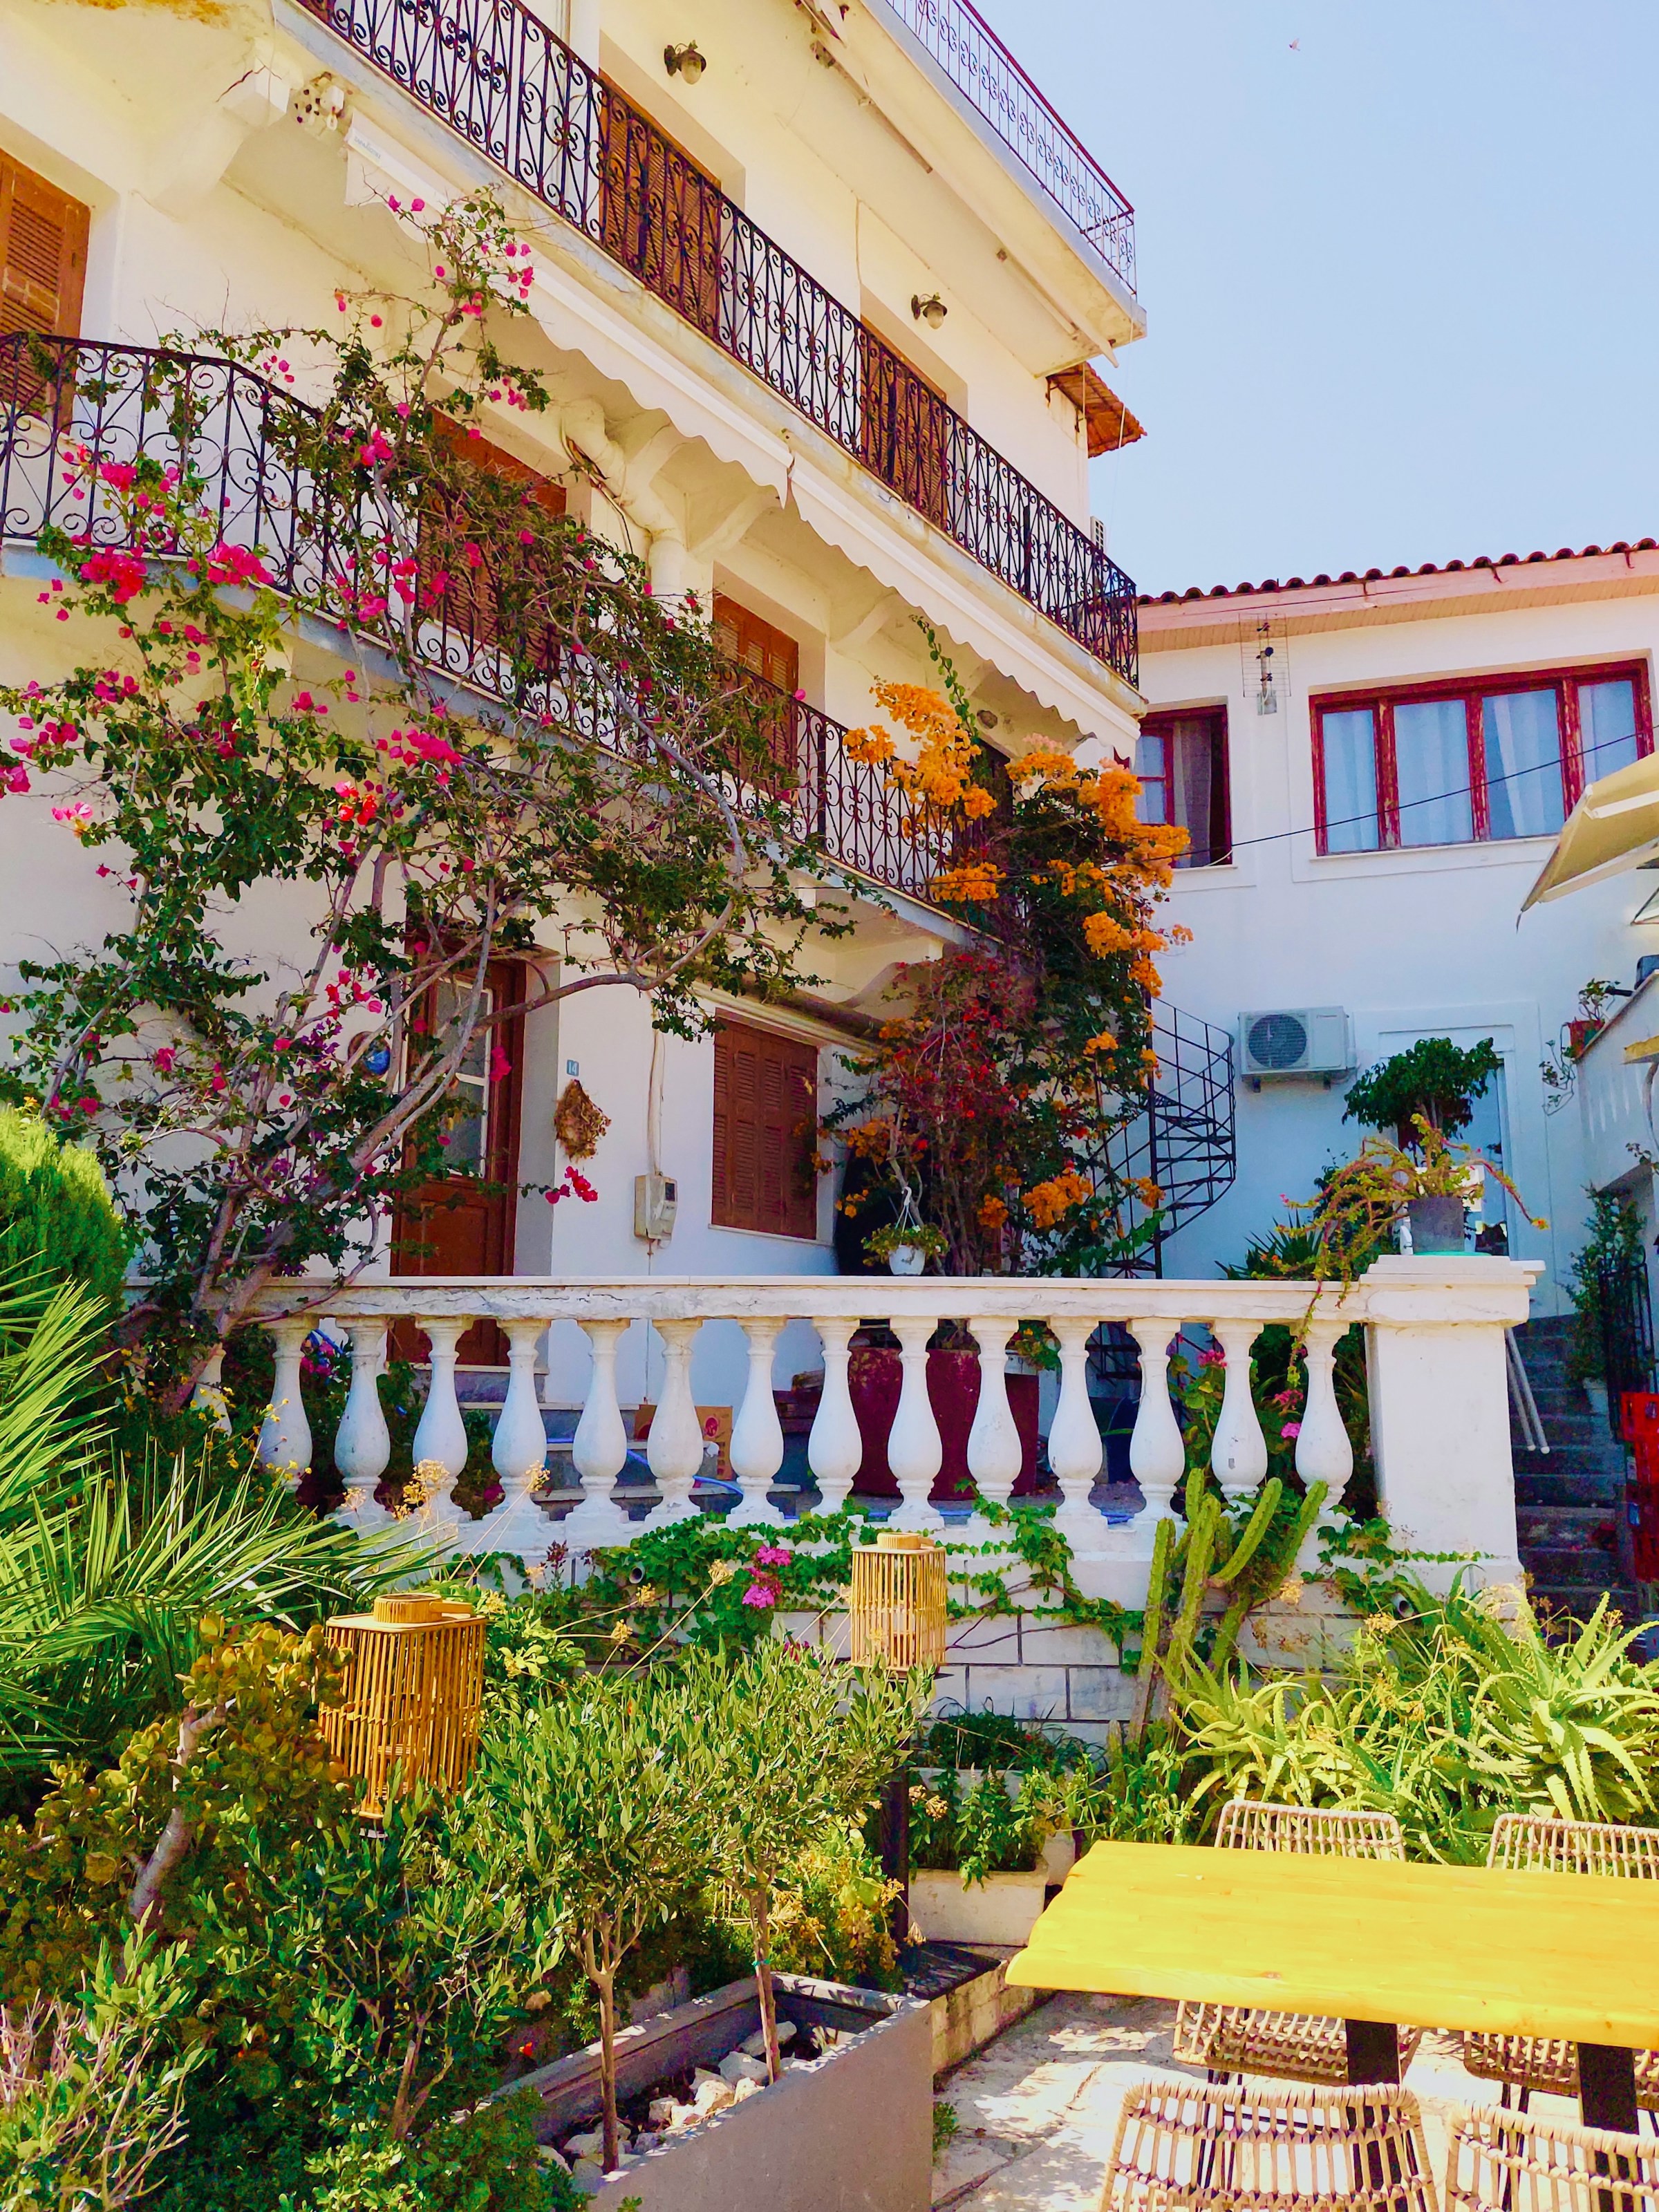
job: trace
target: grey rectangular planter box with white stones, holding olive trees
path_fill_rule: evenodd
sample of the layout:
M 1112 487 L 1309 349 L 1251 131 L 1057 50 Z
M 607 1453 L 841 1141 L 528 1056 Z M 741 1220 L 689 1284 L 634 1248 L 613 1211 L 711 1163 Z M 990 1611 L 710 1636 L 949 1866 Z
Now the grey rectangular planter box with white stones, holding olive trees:
M 792 2066 L 611 2174 L 593 2212 L 927 2212 L 933 2170 L 933 2022 L 927 2004 L 779 1973 L 779 2020 L 847 2042 Z M 675 2006 L 617 2037 L 617 2101 L 719 2062 L 761 2024 L 754 1980 Z M 562 2141 L 599 2117 L 599 2051 L 577 2051 L 509 2084 L 542 2099 L 538 2137 Z

